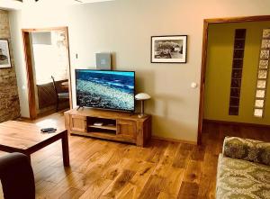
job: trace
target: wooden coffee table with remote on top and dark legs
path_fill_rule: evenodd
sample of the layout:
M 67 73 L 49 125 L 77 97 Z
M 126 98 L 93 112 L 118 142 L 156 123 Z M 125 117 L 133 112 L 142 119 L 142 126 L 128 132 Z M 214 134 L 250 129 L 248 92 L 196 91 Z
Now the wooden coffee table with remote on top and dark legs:
M 63 163 L 69 166 L 67 130 L 58 129 L 52 133 L 41 133 L 40 127 L 33 123 L 7 121 L 0 123 L 0 150 L 21 152 L 31 159 L 31 153 L 49 144 L 62 140 Z

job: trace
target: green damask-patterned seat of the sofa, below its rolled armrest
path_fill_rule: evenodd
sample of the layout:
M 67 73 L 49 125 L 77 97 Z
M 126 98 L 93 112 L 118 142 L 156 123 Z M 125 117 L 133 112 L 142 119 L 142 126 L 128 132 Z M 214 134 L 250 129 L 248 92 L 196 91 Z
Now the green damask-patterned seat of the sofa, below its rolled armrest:
M 270 167 L 220 154 L 217 198 L 270 198 Z

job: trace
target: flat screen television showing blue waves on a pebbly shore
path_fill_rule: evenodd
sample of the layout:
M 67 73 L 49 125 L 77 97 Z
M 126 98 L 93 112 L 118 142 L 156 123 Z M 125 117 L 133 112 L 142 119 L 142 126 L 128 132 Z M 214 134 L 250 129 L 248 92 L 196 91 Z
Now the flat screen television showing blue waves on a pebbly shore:
M 76 105 L 135 111 L 135 72 L 76 69 Z

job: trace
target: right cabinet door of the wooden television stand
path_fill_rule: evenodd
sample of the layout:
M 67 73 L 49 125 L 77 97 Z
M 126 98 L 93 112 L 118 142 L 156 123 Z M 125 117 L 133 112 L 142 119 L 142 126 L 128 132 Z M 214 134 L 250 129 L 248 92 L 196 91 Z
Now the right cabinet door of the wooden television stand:
M 126 120 L 117 121 L 117 135 L 124 138 L 136 139 L 136 122 Z

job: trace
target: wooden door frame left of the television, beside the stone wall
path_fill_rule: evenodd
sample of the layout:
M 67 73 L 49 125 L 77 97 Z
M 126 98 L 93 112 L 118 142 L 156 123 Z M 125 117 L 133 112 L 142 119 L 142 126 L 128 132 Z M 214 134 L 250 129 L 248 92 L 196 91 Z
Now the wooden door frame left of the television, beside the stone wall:
M 69 91 L 69 106 L 73 107 L 72 104 L 72 85 L 71 85 L 71 67 L 70 67 L 70 53 L 69 53 L 69 41 L 68 41 L 68 29 L 67 26 L 63 27 L 53 27 L 53 28 L 41 28 L 41 29 L 22 29 L 23 34 L 23 50 L 24 50 L 24 60 L 26 65 L 26 75 L 27 75 L 27 88 L 28 88 L 28 104 L 29 104 L 29 114 L 30 119 L 34 120 L 37 118 L 36 101 L 35 101 L 35 85 L 33 79 L 33 69 L 31 62 L 31 43 L 30 43 L 30 33 L 32 32 L 52 32 L 52 31 L 64 31 L 67 37 L 67 59 L 68 59 L 68 91 Z

